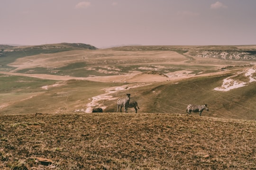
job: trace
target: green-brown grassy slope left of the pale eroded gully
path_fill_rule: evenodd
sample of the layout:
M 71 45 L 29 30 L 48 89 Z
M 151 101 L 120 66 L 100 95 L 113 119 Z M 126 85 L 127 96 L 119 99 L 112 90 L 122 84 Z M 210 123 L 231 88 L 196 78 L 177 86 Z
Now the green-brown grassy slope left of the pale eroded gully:
M 54 81 L 26 76 L 0 75 L 0 115 L 69 113 L 86 109 L 88 99 L 116 83 Z

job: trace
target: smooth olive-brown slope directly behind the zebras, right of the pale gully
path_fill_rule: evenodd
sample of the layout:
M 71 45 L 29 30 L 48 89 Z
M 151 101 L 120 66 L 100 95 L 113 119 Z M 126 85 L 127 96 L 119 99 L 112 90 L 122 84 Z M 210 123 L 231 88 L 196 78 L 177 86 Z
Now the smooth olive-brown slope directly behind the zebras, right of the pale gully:
M 228 76 L 230 75 L 153 83 L 125 93 L 131 93 L 130 100 L 138 102 L 138 112 L 185 114 L 190 103 L 208 104 L 209 112 L 203 111 L 202 116 L 255 120 L 256 83 L 228 92 L 215 91 L 214 88 L 221 85 L 222 80 Z M 123 94 L 124 92 L 116 93 L 114 96 Z M 105 104 L 110 105 L 106 111 L 116 111 L 115 102 Z M 134 112 L 134 109 L 130 108 L 128 111 Z

